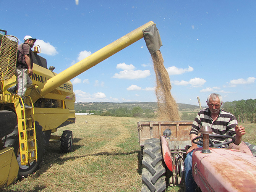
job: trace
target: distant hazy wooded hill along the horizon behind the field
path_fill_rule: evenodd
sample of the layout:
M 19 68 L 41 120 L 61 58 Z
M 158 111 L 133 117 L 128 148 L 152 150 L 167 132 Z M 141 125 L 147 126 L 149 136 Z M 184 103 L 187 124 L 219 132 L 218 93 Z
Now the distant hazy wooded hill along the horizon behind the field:
M 199 111 L 199 106 L 189 105 L 184 103 L 177 103 L 179 111 Z M 143 109 L 157 110 L 156 102 L 122 102 L 122 103 L 112 103 L 112 102 L 89 102 L 89 103 L 75 103 L 76 111 L 109 111 L 118 108 L 128 108 L 132 110 L 134 107 L 140 106 Z

